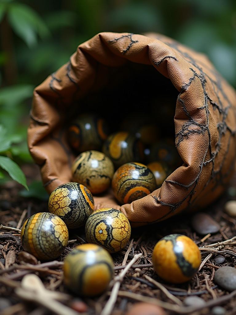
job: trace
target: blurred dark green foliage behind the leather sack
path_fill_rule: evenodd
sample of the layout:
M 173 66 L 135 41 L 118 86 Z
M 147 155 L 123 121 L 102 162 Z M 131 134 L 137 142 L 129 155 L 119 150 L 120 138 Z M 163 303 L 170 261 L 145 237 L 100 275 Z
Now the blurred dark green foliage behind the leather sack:
M 31 160 L 26 129 L 33 87 L 101 31 L 173 37 L 206 53 L 236 87 L 235 0 L 0 0 L 1 154 Z

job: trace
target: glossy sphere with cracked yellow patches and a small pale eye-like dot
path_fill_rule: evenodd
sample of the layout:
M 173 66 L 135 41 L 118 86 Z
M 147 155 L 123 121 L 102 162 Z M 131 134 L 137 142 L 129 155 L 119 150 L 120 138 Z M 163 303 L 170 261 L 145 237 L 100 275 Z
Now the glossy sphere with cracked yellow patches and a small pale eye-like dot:
M 101 245 L 110 253 L 115 253 L 128 243 L 131 227 L 120 210 L 103 208 L 89 216 L 85 233 L 87 242 Z

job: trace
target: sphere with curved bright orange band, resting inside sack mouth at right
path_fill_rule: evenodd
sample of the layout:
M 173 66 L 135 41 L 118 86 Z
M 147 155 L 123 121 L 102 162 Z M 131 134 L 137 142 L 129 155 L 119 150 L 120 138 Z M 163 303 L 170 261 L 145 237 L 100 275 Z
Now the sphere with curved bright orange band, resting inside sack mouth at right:
M 146 165 L 126 163 L 116 170 L 112 189 L 120 203 L 131 203 L 153 192 L 156 189 L 156 180 Z

